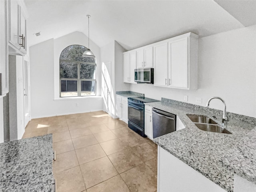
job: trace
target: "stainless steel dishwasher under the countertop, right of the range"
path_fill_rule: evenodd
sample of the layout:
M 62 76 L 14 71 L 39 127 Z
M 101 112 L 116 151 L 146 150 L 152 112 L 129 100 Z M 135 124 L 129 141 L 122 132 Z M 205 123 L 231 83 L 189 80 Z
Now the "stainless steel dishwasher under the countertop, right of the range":
M 153 138 L 176 131 L 176 115 L 153 108 Z

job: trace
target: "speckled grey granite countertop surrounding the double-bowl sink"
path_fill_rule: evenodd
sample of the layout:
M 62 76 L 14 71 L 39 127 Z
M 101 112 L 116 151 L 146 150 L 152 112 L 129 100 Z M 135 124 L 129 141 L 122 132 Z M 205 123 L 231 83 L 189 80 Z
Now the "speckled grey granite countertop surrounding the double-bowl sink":
M 222 125 L 222 111 L 220 110 L 165 98 L 162 98 L 161 102 L 145 105 L 176 114 L 185 126 L 182 130 L 155 138 L 154 142 L 226 191 L 233 192 L 234 173 L 247 179 L 250 176 L 255 178 L 256 118 L 228 113 L 230 121 L 224 128 L 232 134 L 222 134 L 200 130 L 187 116 L 187 114 L 216 116 L 216 122 Z M 251 147 L 247 148 L 249 143 Z M 237 151 L 239 147 L 241 150 Z M 240 157 L 241 154 L 243 158 Z M 244 164 L 238 165 L 237 162 L 238 159 L 240 162 L 245 162 L 245 154 L 251 157 L 246 161 L 250 167 L 243 169 Z M 248 180 L 255 181 L 252 178 Z

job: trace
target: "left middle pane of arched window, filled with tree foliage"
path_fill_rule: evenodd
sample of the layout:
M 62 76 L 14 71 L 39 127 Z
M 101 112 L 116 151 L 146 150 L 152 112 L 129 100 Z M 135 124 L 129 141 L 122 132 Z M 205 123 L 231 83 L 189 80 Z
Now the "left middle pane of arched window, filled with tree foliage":
M 77 64 L 60 61 L 60 78 L 77 79 Z

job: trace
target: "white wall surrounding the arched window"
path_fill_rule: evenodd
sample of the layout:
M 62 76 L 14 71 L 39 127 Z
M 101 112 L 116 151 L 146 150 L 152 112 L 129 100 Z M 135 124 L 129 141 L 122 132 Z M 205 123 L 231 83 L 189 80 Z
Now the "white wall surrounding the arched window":
M 59 58 L 60 52 L 71 44 L 86 46 L 84 38 L 86 39 L 86 36 L 82 33 L 74 32 L 56 40 L 50 39 L 30 47 L 30 92 L 32 118 L 102 110 L 102 97 L 100 96 L 83 98 L 54 98 L 54 91 L 56 89 L 59 91 L 59 86 L 56 88 L 54 82 L 54 78 L 57 76 L 56 58 Z M 94 54 L 96 55 L 98 62 L 98 59 L 100 59 L 100 49 L 94 49 L 93 44 L 90 48 L 93 52 L 95 50 Z M 60 51 L 60 49 L 62 50 Z M 99 75 L 97 74 L 97 76 Z M 59 78 L 59 74 L 57 78 Z M 100 91 L 98 91 L 100 90 L 100 80 L 98 80 L 98 78 L 99 77 L 97 77 L 97 93 L 100 94 Z

